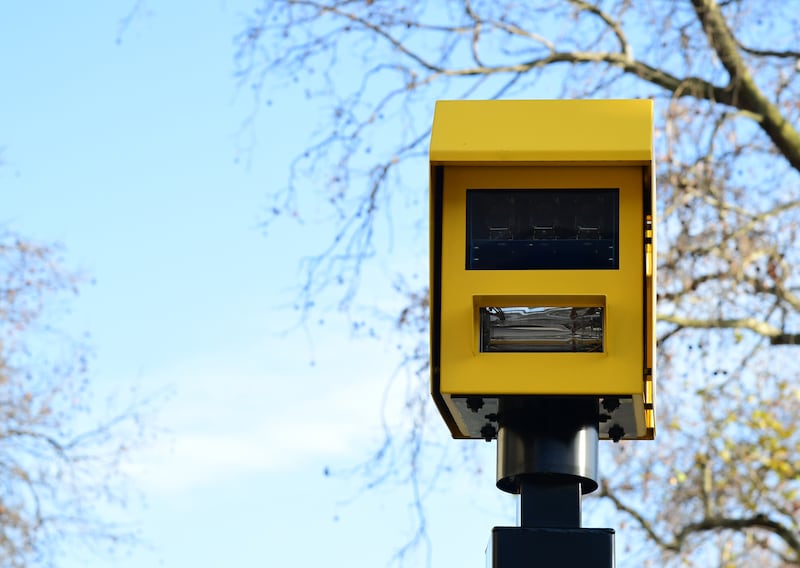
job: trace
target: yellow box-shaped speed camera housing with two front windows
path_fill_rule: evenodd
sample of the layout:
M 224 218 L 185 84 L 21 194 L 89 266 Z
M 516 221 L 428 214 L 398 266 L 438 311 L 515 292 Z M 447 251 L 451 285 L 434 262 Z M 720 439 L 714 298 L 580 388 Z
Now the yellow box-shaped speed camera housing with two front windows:
M 431 390 L 456 438 L 508 398 L 596 396 L 652 439 L 653 105 L 439 101 L 430 145 Z

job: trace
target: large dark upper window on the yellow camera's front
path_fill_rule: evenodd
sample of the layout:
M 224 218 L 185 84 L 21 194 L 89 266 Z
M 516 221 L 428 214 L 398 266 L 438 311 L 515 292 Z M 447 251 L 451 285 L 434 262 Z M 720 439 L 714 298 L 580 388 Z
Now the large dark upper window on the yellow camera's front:
M 467 190 L 467 269 L 618 269 L 618 189 Z

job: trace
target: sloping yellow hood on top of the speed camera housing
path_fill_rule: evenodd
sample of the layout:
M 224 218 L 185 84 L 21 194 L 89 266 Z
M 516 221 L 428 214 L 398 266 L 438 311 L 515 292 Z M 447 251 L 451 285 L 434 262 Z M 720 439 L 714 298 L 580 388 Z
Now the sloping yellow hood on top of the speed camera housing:
M 652 125 L 647 99 L 437 101 L 429 155 L 443 164 L 640 165 L 653 159 Z

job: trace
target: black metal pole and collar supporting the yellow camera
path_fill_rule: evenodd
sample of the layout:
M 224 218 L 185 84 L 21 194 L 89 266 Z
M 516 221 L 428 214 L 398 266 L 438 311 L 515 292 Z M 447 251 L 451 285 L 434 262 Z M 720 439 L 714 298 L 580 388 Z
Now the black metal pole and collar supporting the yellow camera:
M 614 568 L 614 531 L 581 528 L 597 489 L 596 397 L 501 401 L 497 487 L 520 496 L 520 526 L 495 527 L 492 568 Z

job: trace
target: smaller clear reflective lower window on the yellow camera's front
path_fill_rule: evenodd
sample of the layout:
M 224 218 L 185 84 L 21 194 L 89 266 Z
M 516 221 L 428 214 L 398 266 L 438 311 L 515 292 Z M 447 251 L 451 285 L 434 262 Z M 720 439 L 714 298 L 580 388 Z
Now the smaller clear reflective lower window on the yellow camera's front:
M 483 353 L 603 351 L 602 307 L 480 308 Z

